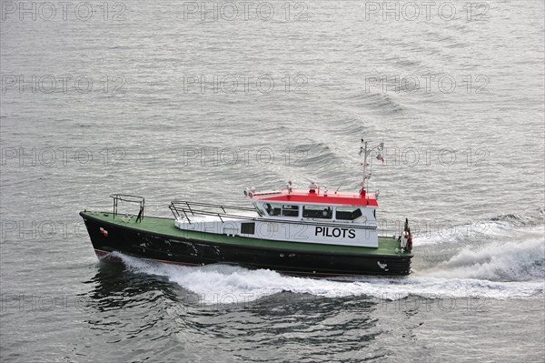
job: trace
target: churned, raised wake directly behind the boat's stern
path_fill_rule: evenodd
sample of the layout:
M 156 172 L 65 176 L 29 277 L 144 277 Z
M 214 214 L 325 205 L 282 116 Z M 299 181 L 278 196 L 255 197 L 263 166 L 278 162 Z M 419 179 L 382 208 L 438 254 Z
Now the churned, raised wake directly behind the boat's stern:
M 545 236 L 542 214 L 505 215 L 454 236 L 431 236 L 415 243 L 413 270 L 422 277 L 474 278 L 523 282 L 545 278 Z M 470 236 L 467 230 L 471 230 Z M 421 257 L 421 258 L 420 258 Z

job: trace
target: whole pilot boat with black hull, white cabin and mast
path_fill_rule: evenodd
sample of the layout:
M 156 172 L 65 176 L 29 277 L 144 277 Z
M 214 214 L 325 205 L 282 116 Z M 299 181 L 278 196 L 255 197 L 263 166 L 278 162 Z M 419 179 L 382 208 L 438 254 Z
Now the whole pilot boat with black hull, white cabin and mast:
M 114 194 L 112 212 L 84 210 L 80 216 L 99 259 L 119 259 L 118 252 L 183 266 L 234 264 L 298 276 L 408 275 L 409 222 L 399 237 L 379 237 L 378 192 L 366 190 L 368 156 L 376 151 L 381 159 L 383 144 L 369 149 L 362 143 L 358 192 L 330 192 L 315 182 L 295 189 L 288 182 L 277 191 L 244 190 L 252 207 L 173 200 L 170 218 L 144 217 L 144 197 Z M 138 214 L 118 212 L 125 202 L 138 205 Z

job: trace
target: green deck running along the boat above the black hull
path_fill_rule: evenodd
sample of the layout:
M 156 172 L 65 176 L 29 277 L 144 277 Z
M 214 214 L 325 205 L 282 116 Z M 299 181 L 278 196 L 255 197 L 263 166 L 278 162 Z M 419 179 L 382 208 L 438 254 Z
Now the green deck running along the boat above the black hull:
M 91 217 L 104 221 L 104 228 L 106 229 L 107 225 L 110 224 L 142 230 L 144 232 L 166 237 L 180 237 L 212 243 L 242 245 L 245 247 L 288 248 L 292 250 L 327 252 L 331 254 L 411 256 L 410 252 L 405 252 L 399 247 L 399 242 L 394 237 L 379 237 L 378 248 L 335 246 L 309 242 L 275 241 L 263 238 L 226 236 L 200 231 L 183 230 L 174 226 L 174 219 L 172 217 L 144 217 L 142 222 L 135 222 L 136 217 L 134 216 L 128 217 L 118 214 L 114 218 L 114 215 L 111 212 L 98 211 L 84 211 L 82 212 L 82 217 Z

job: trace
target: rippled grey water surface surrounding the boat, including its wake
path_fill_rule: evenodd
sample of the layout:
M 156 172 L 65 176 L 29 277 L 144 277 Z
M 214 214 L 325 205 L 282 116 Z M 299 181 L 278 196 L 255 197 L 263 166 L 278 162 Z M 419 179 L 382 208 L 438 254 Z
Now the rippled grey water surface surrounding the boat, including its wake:
M 0 23 L 6 362 L 542 362 L 540 1 L 11 2 Z M 111 193 L 356 190 L 409 277 L 98 262 Z

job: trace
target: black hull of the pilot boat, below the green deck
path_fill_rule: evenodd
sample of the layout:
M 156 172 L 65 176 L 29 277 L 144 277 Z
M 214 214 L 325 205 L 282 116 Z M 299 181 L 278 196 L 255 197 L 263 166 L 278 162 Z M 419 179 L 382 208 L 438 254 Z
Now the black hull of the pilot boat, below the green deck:
M 290 275 L 334 277 L 360 275 L 408 275 L 411 256 L 323 253 L 301 250 L 235 246 L 202 241 L 124 227 L 84 217 L 98 257 L 118 251 L 129 256 L 187 266 L 216 263 L 236 264 L 249 268 L 269 268 Z M 100 232 L 107 229 L 107 236 Z

